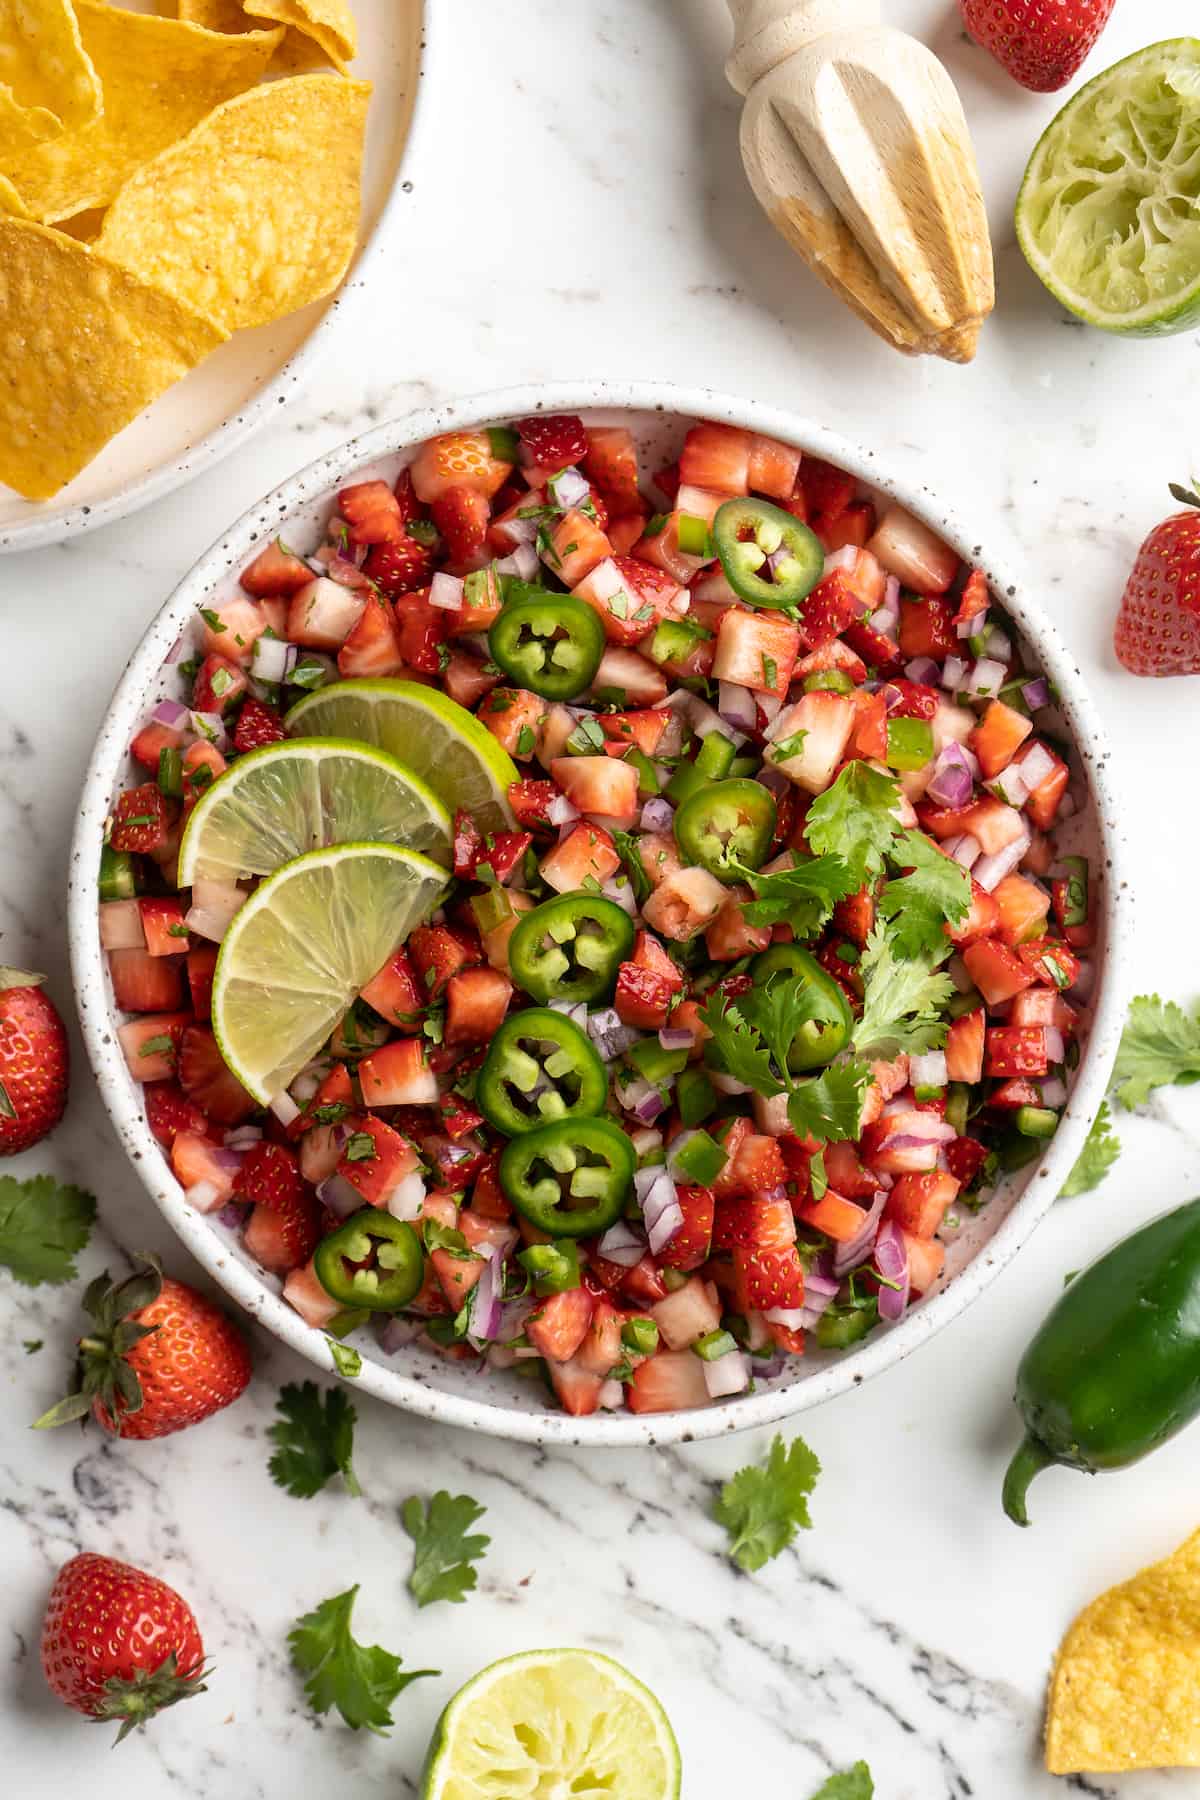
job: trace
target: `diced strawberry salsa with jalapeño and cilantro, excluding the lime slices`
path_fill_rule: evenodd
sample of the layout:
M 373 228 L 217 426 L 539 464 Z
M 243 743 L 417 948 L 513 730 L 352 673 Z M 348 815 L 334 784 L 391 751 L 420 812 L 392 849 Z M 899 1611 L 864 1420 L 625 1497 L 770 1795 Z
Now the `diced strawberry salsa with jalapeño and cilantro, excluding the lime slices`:
M 705 1406 L 903 1318 L 1052 1136 L 1094 940 L 1052 695 L 842 470 L 714 423 L 653 477 L 621 427 L 455 432 L 196 632 L 101 941 L 189 1202 L 308 1323 L 570 1413 Z M 491 733 L 509 817 L 455 815 L 443 904 L 264 1111 L 210 1026 L 252 884 L 180 893 L 182 826 L 313 689 L 389 679 Z

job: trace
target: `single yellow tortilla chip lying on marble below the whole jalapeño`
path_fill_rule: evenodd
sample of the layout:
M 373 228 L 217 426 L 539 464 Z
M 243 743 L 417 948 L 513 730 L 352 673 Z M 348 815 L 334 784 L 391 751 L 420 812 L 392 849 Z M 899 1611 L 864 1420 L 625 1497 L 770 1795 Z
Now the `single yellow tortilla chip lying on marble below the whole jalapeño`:
M 1200 1768 L 1200 1532 L 1076 1618 L 1051 1679 L 1045 1766 Z

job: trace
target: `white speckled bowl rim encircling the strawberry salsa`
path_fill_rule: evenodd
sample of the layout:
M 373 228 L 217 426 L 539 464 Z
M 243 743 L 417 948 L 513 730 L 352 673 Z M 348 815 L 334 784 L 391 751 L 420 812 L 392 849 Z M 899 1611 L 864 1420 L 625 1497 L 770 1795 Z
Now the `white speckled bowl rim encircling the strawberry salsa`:
M 372 475 L 394 479 L 412 450 L 434 432 L 500 423 L 534 410 L 583 412 L 592 423 L 631 425 L 646 446 L 644 466 L 649 470 L 658 468 L 675 452 L 687 423 L 696 418 L 725 419 L 828 457 L 921 515 L 964 558 L 988 571 L 993 589 L 1004 598 L 1036 661 L 1058 686 L 1063 725 L 1078 751 L 1078 778 L 1090 796 L 1090 805 L 1067 826 L 1070 848 L 1088 853 L 1092 866 L 1105 871 L 1101 940 L 1096 952 L 1099 979 L 1090 1006 L 1083 1060 L 1063 1123 L 1042 1161 L 1009 1177 L 993 1201 L 970 1219 L 948 1249 L 946 1276 L 939 1289 L 914 1307 L 900 1325 L 882 1327 L 862 1346 L 842 1355 L 804 1357 L 774 1382 L 761 1384 L 756 1393 L 705 1411 L 653 1417 L 599 1413 L 592 1418 L 572 1418 L 545 1406 L 540 1390 L 527 1381 L 444 1363 L 417 1348 L 383 1357 L 371 1332 L 356 1334 L 363 1355 L 362 1386 L 390 1400 L 392 1406 L 405 1406 L 446 1424 L 533 1444 L 631 1445 L 712 1438 L 770 1424 L 844 1393 L 909 1355 L 982 1292 L 993 1274 L 1016 1255 L 1061 1188 L 1105 1094 L 1124 1012 L 1121 968 L 1130 931 L 1130 891 L 1123 869 L 1117 805 L 1108 783 L 1108 749 L 1083 691 L 1079 670 L 1040 605 L 1024 592 L 1009 571 L 991 562 L 979 542 L 984 533 L 964 531 L 925 488 L 909 486 L 891 472 L 876 468 L 871 450 L 855 448 L 824 427 L 777 407 L 730 400 L 705 389 L 576 382 L 513 389 L 416 412 L 392 425 L 381 425 L 311 463 L 252 506 L 201 556 L 158 612 L 117 686 L 86 772 L 70 857 L 68 927 L 76 999 L 104 1105 L 139 1177 L 162 1213 L 187 1249 L 246 1312 L 318 1368 L 331 1370 L 326 1337 L 304 1325 L 282 1301 L 279 1283 L 245 1256 L 228 1229 L 214 1217 L 203 1217 L 185 1204 L 180 1184 L 149 1134 L 140 1093 L 126 1071 L 117 1044 L 119 1021 L 99 945 L 95 893 L 104 819 L 115 794 L 130 783 L 128 745 L 137 724 L 164 695 L 176 693 L 178 675 L 166 666 L 167 653 L 194 619 L 198 607 L 214 605 L 236 589 L 237 571 L 245 567 L 255 545 L 277 533 L 299 545 L 318 542 L 318 522 L 331 490 L 349 479 Z

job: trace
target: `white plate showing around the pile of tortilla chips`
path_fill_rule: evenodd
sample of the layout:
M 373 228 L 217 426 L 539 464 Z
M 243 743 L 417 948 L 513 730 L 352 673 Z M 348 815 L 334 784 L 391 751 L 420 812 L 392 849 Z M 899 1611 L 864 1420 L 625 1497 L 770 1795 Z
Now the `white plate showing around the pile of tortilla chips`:
M 130 11 L 155 11 L 148 0 L 122 0 Z M 254 331 L 234 331 L 189 376 L 167 389 L 117 434 L 52 500 L 25 500 L 0 484 L 0 554 L 61 544 L 94 526 L 112 524 L 239 443 L 295 398 L 353 319 L 358 290 L 398 207 L 405 146 L 428 81 L 423 0 L 354 0 L 360 54 L 353 74 L 374 83 L 363 162 L 363 211 L 358 256 L 331 299 Z

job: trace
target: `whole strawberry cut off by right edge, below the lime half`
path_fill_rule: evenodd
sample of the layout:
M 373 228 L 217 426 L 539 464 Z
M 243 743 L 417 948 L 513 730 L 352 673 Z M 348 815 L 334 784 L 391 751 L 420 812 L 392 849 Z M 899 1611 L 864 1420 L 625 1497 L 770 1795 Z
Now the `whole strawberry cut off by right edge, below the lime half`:
M 1112 635 L 1132 675 L 1200 675 L 1200 497 L 1157 526 L 1133 563 Z

